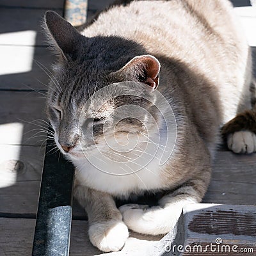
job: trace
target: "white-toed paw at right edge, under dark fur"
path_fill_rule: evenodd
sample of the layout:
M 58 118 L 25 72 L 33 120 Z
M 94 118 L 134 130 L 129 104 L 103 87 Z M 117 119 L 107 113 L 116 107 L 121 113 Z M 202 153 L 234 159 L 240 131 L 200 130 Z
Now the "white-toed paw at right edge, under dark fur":
M 250 131 L 228 134 L 228 148 L 235 153 L 250 154 L 256 152 L 256 135 Z

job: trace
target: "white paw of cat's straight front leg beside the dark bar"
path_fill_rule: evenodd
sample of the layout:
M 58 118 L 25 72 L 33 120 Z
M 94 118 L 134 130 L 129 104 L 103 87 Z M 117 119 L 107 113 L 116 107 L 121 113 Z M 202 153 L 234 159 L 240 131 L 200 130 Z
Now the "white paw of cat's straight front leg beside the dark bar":
M 122 221 L 92 223 L 89 227 L 90 241 L 102 252 L 117 252 L 129 236 L 128 228 Z

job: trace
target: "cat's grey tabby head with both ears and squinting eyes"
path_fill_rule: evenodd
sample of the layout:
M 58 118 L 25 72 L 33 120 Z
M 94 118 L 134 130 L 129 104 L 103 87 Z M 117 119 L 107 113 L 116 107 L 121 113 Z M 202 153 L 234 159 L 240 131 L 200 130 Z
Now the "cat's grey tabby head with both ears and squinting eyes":
M 117 36 L 87 38 L 54 12 L 45 13 L 45 28 L 58 55 L 47 116 L 63 154 L 84 157 L 109 143 L 122 148 L 156 130 L 160 64 L 154 56 Z

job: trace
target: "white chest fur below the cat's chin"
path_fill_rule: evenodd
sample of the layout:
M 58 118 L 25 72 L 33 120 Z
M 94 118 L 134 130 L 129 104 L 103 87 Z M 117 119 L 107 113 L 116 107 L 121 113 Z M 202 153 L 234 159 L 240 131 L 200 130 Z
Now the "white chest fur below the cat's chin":
M 157 136 L 158 134 L 152 136 L 150 142 L 157 141 Z M 144 136 L 141 136 L 139 140 L 147 141 Z M 166 141 L 166 133 L 161 131 L 161 141 L 159 144 L 164 145 L 163 141 Z M 166 154 L 166 151 L 172 149 L 171 146 L 172 145 L 166 146 L 167 149 L 164 150 L 164 154 Z M 141 148 L 145 150 L 145 152 L 141 154 L 136 161 L 126 163 L 118 163 L 118 161 L 113 161 L 112 159 L 102 156 L 97 148 L 88 152 L 90 153 L 88 154 L 90 161 L 85 157 L 72 158 L 72 162 L 77 168 L 77 180 L 89 188 L 124 197 L 128 197 L 131 192 L 136 193 L 164 188 L 163 186 L 166 185 L 164 184 L 161 172 L 164 171 L 163 167 L 165 166 L 164 164 L 161 166 L 160 160 L 163 159 L 161 157 L 165 157 L 163 156 L 163 146 L 140 142 L 137 147 L 131 151 L 131 155 L 128 154 L 127 156 L 134 157 L 134 154 L 138 156 L 140 152 L 137 150 L 141 150 Z M 120 152 L 118 154 L 120 154 Z M 118 159 L 118 155 L 116 159 Z M 93 166 L 92 163 L 95 163 L 95 161 L 97 161 L 97 167 L 101 168 Z M 142 166 L 141 170 L 139 170 L 140 166 Z

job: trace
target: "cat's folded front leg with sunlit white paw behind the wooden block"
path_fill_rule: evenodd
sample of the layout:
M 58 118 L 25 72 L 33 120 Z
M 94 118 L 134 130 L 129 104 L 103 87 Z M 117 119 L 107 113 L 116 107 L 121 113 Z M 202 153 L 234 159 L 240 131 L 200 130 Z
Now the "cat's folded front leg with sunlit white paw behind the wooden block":
M 160 235 L 175 233 L 175 225 L 179 220 L 182 208 L 186 204 L 201 202 L 211 176 L 211 169 L 201 172 L 172 193 L 163 196 L 156 207 L 147 205 L 127 204 L 119 209 L 124 223 L 129 229 L 141 234 Z

